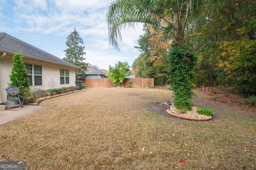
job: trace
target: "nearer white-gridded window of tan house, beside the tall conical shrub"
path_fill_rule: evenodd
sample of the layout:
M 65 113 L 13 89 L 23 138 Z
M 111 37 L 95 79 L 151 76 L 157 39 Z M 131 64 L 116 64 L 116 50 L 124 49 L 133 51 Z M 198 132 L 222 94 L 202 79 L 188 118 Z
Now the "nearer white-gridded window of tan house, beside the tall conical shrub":
M 42 85 L 42 66 L 32 65 L 32 64 L 25 64 L 25 65 L 28 72 L 29 86 L 33 86 L 33 78 L 34 78 L 34 86 L 41 86 Z

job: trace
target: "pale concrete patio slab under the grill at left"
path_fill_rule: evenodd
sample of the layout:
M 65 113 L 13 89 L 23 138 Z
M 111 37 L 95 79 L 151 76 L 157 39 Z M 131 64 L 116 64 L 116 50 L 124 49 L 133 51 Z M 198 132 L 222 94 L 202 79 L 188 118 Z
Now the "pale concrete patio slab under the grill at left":
M 41 106 L 24 106 L 23 108 L 20 107 L 13 107 L 7 110 L 4 109 L 4 106 L 0 106 L 0 124 L 9 122 L 14 120 L 15 118 L 19 118 L 22 116 L 26 116 L 32 114 L 36 111 L 42 110 L 43 107 Z

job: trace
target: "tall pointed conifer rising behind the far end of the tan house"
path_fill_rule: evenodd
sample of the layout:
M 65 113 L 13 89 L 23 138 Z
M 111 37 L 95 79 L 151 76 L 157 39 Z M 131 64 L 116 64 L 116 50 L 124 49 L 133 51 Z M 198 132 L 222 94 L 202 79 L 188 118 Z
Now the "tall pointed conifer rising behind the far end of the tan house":
M 66 57 L 64 57 L 63 60 L 81 68 L 76 71 L 76 77 L 81 77 L 81 75 L 83 77 L 87 67 L 87 63 L 84 62 L 84 55 L 86 53 L 84 52 L 85 46 L 83 46 L 83 44 L 83 38 L 80 37 L 79 33 L 74 29 L 67 38 L 67 49 L 64 50 Z

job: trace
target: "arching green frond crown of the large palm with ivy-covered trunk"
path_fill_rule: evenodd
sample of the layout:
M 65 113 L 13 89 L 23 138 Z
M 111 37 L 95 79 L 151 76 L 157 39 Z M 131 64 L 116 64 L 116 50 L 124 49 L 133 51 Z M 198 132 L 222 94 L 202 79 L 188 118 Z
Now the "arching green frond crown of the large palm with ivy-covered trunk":
M 210 1 L 210 0 L 208 0 Z M 136 23 L 150 25 L 157 32 L 163 30 L 177 44 L 187 44 L 188 20 L 199 12 L 206 0 L 116 0 L 107 12 L 109 42 L 119 50 L 121 30 Z

